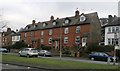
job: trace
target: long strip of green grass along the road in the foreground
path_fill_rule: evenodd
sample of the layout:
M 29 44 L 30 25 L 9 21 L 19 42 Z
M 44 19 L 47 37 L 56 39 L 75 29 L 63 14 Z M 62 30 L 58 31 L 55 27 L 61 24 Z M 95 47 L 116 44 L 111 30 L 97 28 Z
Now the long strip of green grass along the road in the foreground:
M 51 69 L 118 69 L 118 66 L 113 65 L 91 64 L 86 62 L 64 61 L 59 59 L 26 58 L 16 55 L 3 55 L 2 58 L 3 62 L 36 65 L 38 67 Z

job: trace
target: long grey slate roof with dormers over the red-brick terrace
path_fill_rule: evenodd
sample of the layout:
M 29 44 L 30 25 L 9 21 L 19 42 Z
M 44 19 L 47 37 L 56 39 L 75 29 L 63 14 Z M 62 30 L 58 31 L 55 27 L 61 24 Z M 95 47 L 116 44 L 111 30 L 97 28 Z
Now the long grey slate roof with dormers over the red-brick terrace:
M 86 17 L 86 20 L 84 22 L 80 22 L 80 16 L 84 15 Z M 84 14 L 82 13 L 79 16 L 71 16 L 71 17 L 65 17 L 65 18 L 60 18 L 56 19 L 53 21 L 44 21 L 44 22 L 38 22 L 33 24 L 28 24 L 21 32 L 27 32 L 27 31 L 34 31 L 34 30 L 40 30 L 40 29 L 47 29 L 47 28 L 55 28 L 55 27 L 60 27 L 65 23 L 65 20 L 68 19 L 70 21 L 69 24 L 63 25 L 64 26 L 71 26 L 71 25 L 78 25 L 78 24 L 91 24 L 93 22 L 97 23 L 99 22 L 98 14 L 97 12 L 89 13 L 89 14 Z M 56 21 L 57 25 L 53 25 L 53 22 Z M 43 23 L 46 23 L 47 26 L 43 27 Z

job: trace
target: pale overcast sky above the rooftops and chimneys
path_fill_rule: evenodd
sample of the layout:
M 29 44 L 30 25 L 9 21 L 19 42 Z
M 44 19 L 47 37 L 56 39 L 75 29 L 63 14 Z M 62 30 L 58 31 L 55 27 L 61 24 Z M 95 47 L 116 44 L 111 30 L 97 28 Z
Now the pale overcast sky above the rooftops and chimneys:
M 69 17 L 74 16 L 76 8 L 80 13 L 98 12 L 98 16 L 108 17 L 108 15 L 118 14 L 119 0 L 0 0 L 0 24 L 1 20 L 7 26 L 20 29 L 30 24 L 33 19 L 36 22 L 48 21 L 50 16 Z M 1 26 L 1 25 L 0 25 Z

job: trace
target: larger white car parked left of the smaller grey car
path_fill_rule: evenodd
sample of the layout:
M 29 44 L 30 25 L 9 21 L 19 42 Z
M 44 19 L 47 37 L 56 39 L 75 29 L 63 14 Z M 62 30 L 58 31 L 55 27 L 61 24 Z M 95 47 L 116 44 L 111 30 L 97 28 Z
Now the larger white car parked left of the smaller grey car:
M 38 51 L 35 48 L 24 48 L 24 49 L 19 51 L 19 56 L 38 57 Z

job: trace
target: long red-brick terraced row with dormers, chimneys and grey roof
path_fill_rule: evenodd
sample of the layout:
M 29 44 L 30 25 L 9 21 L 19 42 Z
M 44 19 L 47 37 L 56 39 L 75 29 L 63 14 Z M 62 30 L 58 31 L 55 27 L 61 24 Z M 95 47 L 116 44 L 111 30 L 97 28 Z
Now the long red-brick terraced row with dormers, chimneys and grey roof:
M 20 32 L 21 41 L 38 48 L 41 45 L 59 48 L 60 36 L 63 47 L 85 47 L 101 41 L 101 25 L 97 12 L 84 14 L 77 10 L 75 15 L 26 25 Z M 54 41 L 54 42 L 53 42 Z

